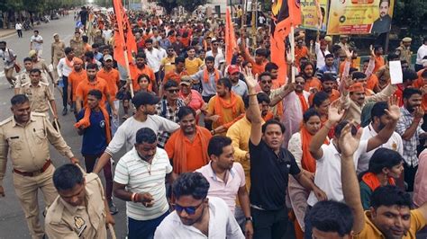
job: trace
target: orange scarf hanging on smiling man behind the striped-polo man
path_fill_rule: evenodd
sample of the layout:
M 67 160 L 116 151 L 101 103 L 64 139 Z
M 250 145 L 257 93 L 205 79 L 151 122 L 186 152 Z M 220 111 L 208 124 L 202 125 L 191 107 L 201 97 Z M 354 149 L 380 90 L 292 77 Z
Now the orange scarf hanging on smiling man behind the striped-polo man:
M 177 174 L 186 173 L 186 141 L 185 135 L 181 129 L 177 132 L 178 140 L 175 140 L 175 154 L 174 154 L 174 172 Z M 209 156 L 207 155 L 208 140 L 203 136 L 200 126 L 195 126 L 195 137 L 200 138 L 202 144 L 202 160 L 204 165 L 209 163 Z

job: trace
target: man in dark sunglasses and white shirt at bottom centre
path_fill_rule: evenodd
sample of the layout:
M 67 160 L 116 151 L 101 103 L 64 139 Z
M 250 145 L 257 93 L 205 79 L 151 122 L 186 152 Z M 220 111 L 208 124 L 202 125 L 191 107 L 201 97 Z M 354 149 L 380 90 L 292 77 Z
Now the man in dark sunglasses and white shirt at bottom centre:
M 154 238 L 245 238 L 225 201 L 207 197 L 209 186 L 202 173 L 181 174 L 172 186 L 175 211 L 160 223 Z

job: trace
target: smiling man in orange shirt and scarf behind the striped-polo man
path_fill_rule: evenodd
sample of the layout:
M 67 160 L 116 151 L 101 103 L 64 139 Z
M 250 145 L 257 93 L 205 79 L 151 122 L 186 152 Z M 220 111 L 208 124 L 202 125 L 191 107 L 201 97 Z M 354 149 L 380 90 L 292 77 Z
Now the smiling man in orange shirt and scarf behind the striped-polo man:
M 187 106 L 177 111 L 180 129 L 173 133 L 165 150 L 174 165 L 174 173 L 193 172 L 208 164 L 207 146 L 212 135 L 208 129 L 197 126 L 195 111 Z

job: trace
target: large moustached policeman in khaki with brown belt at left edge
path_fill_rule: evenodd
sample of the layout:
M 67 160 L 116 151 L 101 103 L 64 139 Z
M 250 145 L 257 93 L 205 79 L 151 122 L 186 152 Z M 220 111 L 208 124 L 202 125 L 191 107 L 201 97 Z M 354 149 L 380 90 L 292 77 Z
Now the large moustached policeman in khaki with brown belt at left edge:
M 71 162 L 78 163 L 78 159 L 46 116 L 31 112 L 30 101 L 24 94 L 14 95 L 11 103 L 14 116 L 0 123 L 0 196 L 5 196 L 2 185 L 10 151 L 16 196 L 32 238 L 42 238 L 37 192 L 41 190 L 47 206 L 58 196 L 52 182 L 54 166 L 50 161 L 49 143 Z

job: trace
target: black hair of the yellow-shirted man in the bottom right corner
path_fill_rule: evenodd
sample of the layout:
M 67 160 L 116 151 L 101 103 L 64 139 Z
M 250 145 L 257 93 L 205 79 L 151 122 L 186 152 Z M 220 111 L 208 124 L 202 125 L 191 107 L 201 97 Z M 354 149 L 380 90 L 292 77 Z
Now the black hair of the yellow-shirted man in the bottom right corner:
M 377 209 L 381 206 L 391 207 L 394 205 L 412 208 L 413 200 L 411 195 L 393 185 L 378 187 L 372 192 L 370 197 L 370 206 L 372 208 Z

